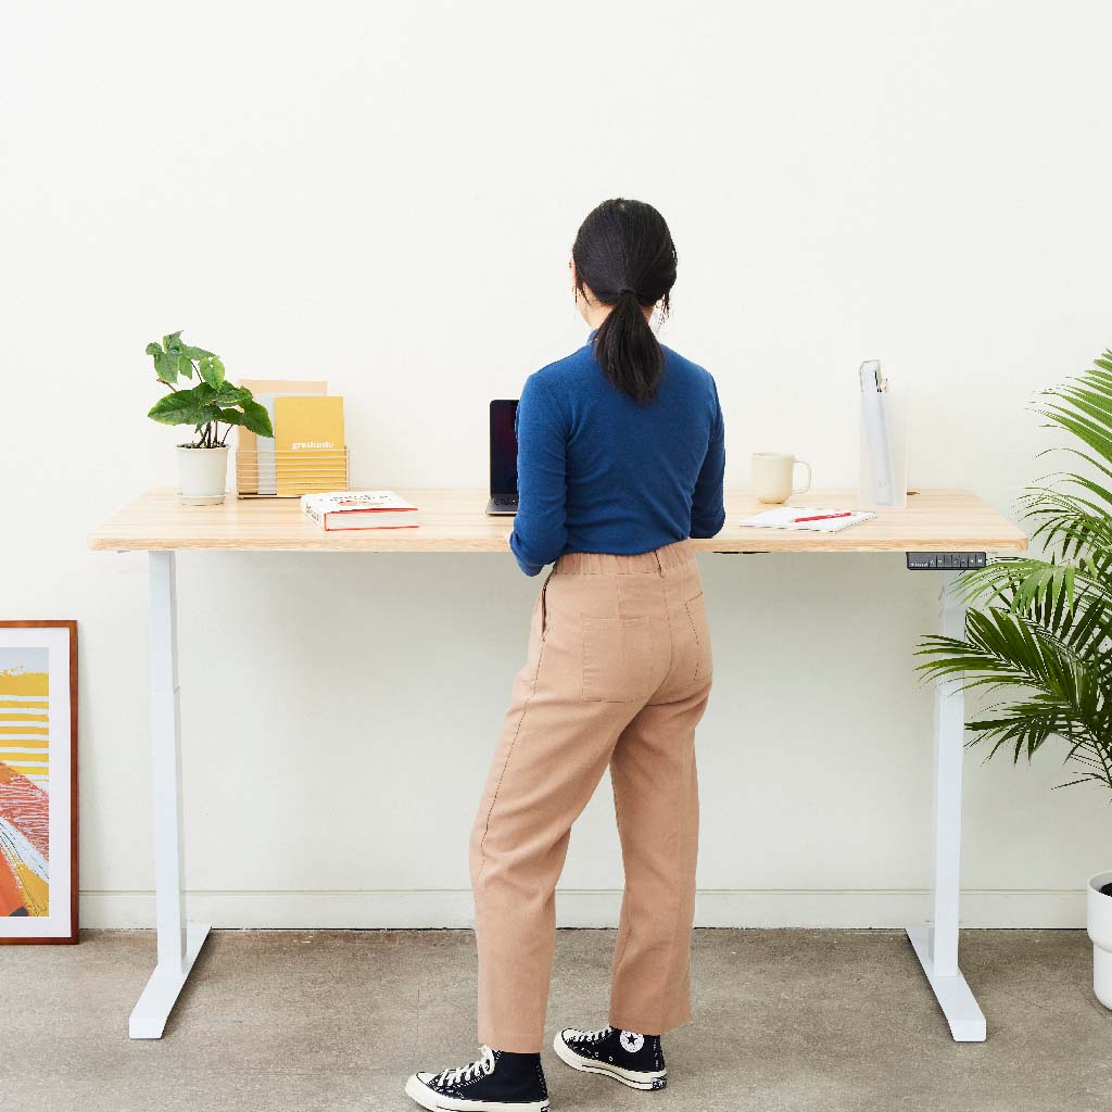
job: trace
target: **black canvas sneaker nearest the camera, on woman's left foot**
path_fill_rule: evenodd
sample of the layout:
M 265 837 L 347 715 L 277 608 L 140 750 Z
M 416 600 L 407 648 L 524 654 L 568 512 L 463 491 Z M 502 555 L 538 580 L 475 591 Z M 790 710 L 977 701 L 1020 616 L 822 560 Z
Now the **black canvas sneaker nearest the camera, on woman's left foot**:
M 415 1073 L 406 1092 L 433 1112 L 548 1112 L 548 1086 L 539 1054 L 479 1048 L 470 1065 Z

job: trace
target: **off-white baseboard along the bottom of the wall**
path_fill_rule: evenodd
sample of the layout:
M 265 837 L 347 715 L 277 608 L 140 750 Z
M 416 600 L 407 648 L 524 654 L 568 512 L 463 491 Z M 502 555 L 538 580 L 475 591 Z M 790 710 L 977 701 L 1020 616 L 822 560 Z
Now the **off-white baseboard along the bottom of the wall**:
M 559 926 L 615 926 L 622 893 L 560 890 Z M 404 892 L 189 892 L 191 919 L 217 927 L 366 930 L 469 927 L 469 890 Z M 697 926 L 902 927 L 926 920 L 924 890 L 709 888 L 698 893 Z M 82 892 L 85 927 L 155 924 L 152 892 Z M 962 894 L 965 927 L 1082 927 L 1083 890 L 972 888 Z

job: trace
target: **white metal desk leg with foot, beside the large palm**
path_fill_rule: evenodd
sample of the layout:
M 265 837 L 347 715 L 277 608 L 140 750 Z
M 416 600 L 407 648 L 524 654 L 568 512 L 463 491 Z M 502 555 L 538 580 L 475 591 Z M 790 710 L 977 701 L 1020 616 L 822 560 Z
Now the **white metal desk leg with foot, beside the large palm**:
M 940 625 L 946 637 L 965 636 L 965 607 L 946 588 L 940 594 Z M 934 693 L 934 905 L 926 926 L 909 926 L 923 972 L 956 1042 L 984 1042 L 984 1013 L 957 969 L 957 913 L 961 897 L 962 755 L 965 697 L 957 677 L 941 681 Z

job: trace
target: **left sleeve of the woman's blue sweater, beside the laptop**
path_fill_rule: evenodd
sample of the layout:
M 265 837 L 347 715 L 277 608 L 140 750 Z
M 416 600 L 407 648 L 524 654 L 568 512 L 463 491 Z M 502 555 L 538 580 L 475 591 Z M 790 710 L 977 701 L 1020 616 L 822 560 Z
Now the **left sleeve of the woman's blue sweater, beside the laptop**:
M 567 428 L 559 401 L 530 375 L 517 404 L 517 517 L 509 546 L 538 575 L 567 540 Z

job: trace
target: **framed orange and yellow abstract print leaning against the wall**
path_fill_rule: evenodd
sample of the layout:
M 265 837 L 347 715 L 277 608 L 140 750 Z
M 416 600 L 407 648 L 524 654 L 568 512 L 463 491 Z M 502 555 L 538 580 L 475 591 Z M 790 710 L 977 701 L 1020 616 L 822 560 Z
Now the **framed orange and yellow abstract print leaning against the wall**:
M 77 623 L 0 622 L 0 944 L 77 942 Z

